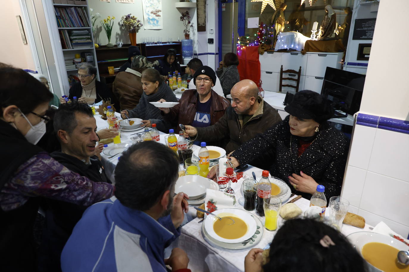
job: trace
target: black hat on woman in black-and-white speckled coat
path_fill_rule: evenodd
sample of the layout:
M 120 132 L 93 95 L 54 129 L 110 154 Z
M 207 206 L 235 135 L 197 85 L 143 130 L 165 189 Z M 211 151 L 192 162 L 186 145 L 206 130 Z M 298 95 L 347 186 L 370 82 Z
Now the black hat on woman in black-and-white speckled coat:
M 298 118 L 314 119 L 319 124 L 330 119 L 334 114 L 330 102 L 324 96 L 308 90 L 296 93 L 292 102 L 284 110 Z

